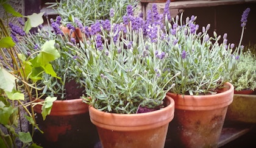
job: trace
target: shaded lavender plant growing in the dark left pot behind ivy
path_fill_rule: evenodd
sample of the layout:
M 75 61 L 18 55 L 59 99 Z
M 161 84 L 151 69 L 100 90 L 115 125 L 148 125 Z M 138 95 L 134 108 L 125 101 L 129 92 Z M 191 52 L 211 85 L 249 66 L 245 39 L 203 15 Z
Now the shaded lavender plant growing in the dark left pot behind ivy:
M 79 44 L 76 44 L 74 38 L 69 38 L 62 32 L 60 16 L 47 21 L 48 26 L 38 27 L 34 34 L 24 35 L 23 41 L 18 42 L 17 46 L 26 57 L 29 57 L 30 54 L 40 51 L 40 47 L 46 41 L 55 41 L 54 47 L 60 54 L 59 58 L 51 62 L 55 77 L 43 74 L 37 81 L 37 85 L 43 87 L 43 90 L 38 93 L 43 95 L 43 99 L 46 96 L 57 97 L 57 100 L 80 98 L 84 93 L 84 88 L 79 82 L 82 75 L 73 68 L 76 66 L 76 53 L 73 52 L 73 48 Z M 71 88 L 75 90 L 69 91 Z

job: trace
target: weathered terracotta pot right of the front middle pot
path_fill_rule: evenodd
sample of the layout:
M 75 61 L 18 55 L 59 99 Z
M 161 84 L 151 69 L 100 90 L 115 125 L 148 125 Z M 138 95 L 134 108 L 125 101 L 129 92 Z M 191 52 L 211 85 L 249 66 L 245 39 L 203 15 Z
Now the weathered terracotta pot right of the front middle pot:
M 169 125 L 171 135 L 168 135 L 175 146 L 217 147 L 233 91 L 233 85 L 225 83 L 225 88 L 217 94 L 190 96 L 167 93 L 175 102 L 174 120 Z

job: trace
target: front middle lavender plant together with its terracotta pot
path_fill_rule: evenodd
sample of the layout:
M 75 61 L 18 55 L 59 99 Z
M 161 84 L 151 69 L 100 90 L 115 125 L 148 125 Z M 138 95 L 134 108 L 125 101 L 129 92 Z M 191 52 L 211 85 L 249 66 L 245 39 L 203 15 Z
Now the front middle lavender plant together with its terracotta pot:
M 144 21 L 132 9 L 127 6 L 123 23 L 110 19 L 109 26 L 91 29 L 90 40 L 73 49 L 77 71 L 84 76 L 83 100 L 103 147 L 164 147 L 174 116 L 174 102 L 166 96 L 171 86 L 166 85 L 177 74 L 166 69 L 163 15 L 154 7 L 157 18 Z

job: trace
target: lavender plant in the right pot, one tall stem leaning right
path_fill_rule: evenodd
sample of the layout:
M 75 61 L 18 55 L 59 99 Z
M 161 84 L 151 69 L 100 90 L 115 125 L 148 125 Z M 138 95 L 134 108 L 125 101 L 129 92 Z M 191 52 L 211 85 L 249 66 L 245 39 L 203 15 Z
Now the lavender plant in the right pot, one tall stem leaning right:
M 196 16 L 187 18 L 185 24 L 182 15 L 172 18 L 172 23 L 166 21 L 169 43 L 165 52 L 169 53 L 169 69 L 172 73 L 180 72 L 175 77 L 176 86 L 172 87 L 172 93 L 214 94 L 230 81 L 243 50 L 241 41 L 249 11 L 246 9 L 242 15 L 242 33 L 237 47 L 227 43 L 227 33 L 222 39 L 216 32 L 210 37 L 210 24 L 202 27 L 202 32 L 197 32 Z

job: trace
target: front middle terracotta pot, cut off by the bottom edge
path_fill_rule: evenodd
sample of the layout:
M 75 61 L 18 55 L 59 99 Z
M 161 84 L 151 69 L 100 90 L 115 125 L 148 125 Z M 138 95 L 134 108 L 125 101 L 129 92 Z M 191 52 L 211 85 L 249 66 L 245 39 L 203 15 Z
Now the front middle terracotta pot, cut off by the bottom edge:
M 164 147 L 168 124 L 174 116 L 174 100 L 166 96 L 167 107 L 139 114 L 105 113 L 89 107 L 102 147 Z

